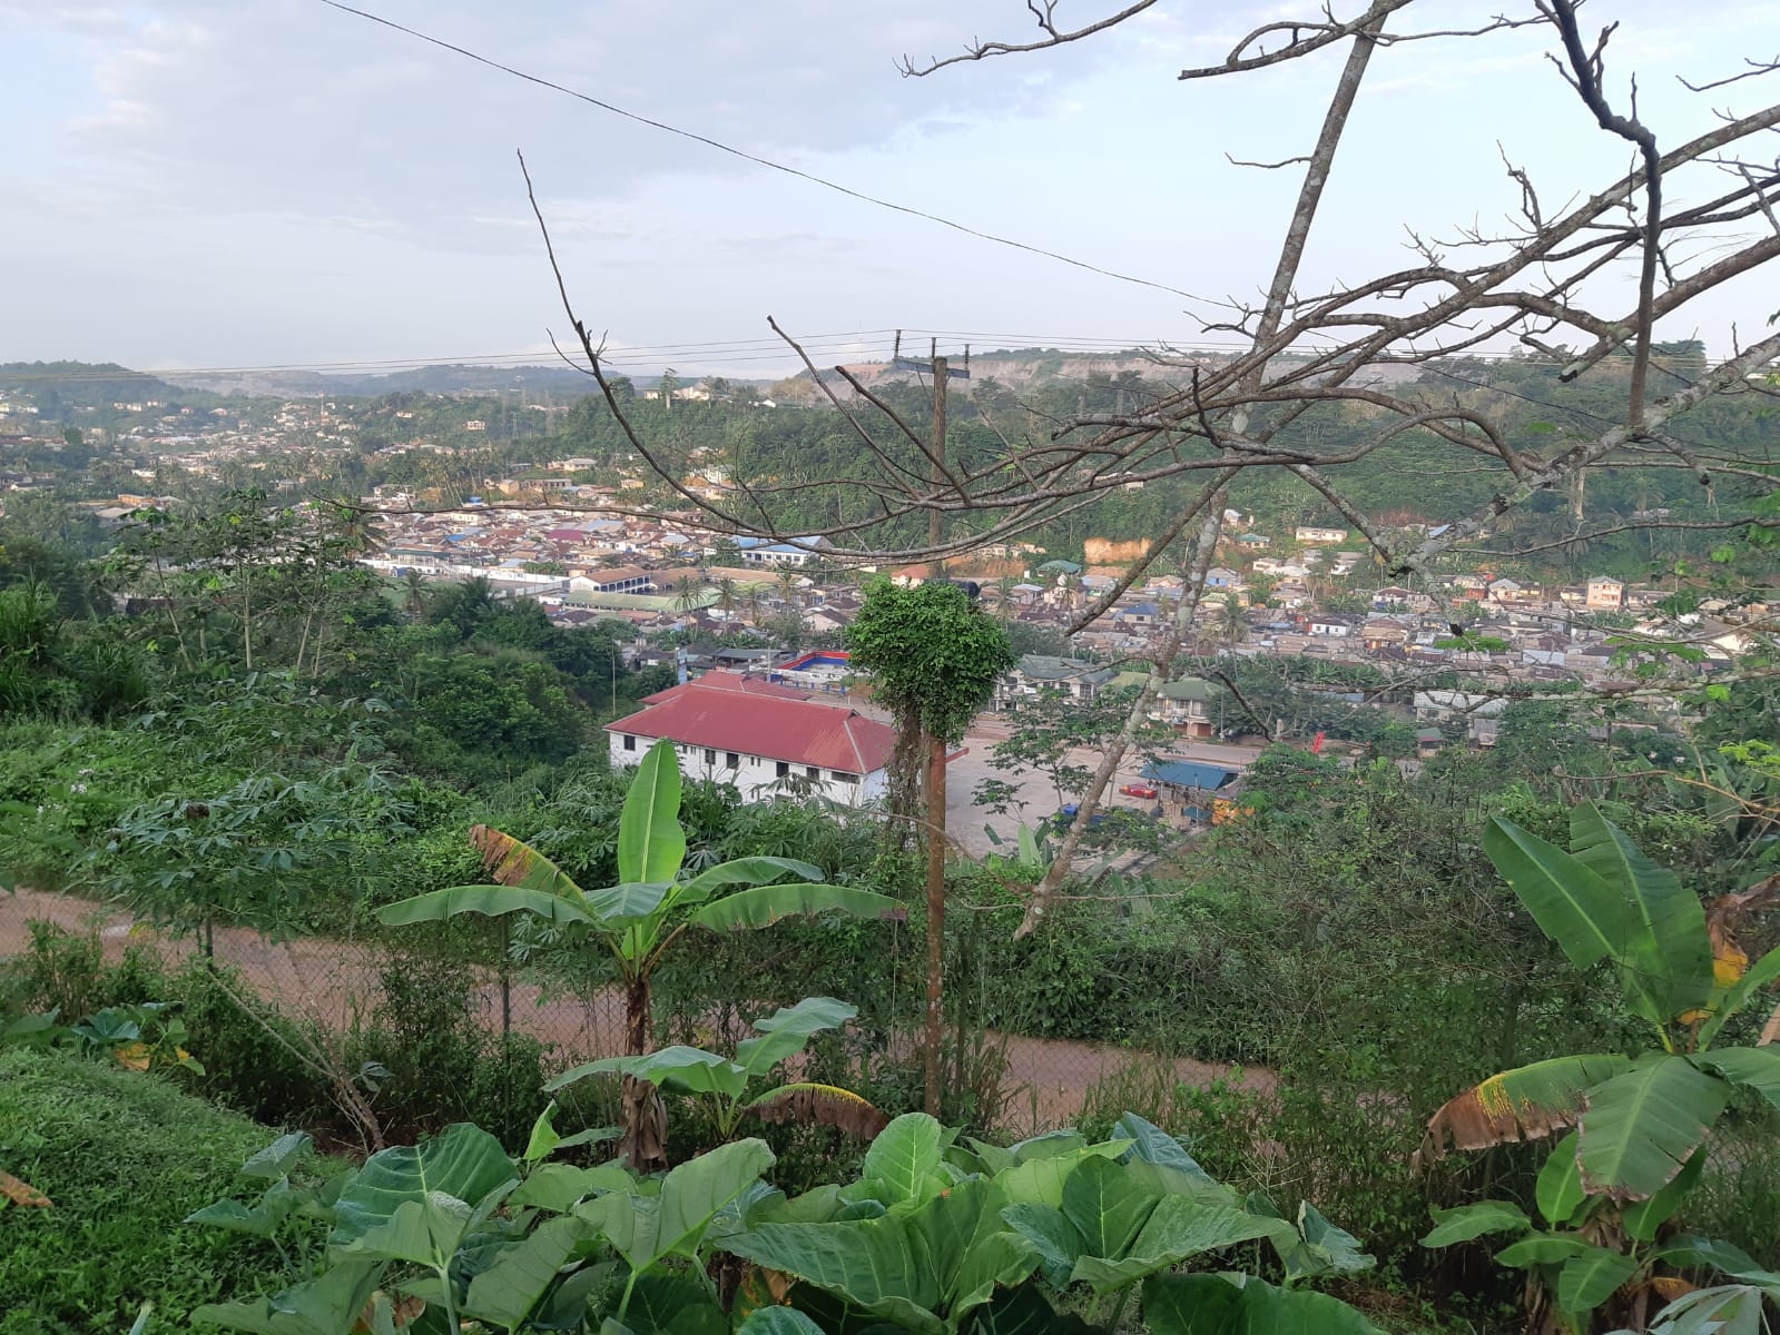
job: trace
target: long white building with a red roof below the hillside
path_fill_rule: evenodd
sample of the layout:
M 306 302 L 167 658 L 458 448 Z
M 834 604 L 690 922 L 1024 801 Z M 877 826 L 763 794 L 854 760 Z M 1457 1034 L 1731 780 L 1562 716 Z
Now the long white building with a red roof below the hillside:
M 605 724 L 612 765 L 635 765 L 659 737 L 687 778 L 733 783 L 744 797 L 806 790 L 849 806 L 885 796 L 895 730 L 803 691 L 708 673 L 659 691 Z

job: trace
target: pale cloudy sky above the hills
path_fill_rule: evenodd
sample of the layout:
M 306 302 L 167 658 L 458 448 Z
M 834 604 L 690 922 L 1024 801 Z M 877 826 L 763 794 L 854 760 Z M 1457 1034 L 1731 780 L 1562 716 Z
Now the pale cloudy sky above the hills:
M 1531 0 L 1431 0 L 1442 27 Z M 765 377 L 883 356 L 1226 342 L 1226 297 L 1271 276 L 1296 171 L 1344 53 L 1180 82 L 1317 0 L 1162 0 L 1089 41 L 904 78 L 897 59 L 1029 41 L 1020 0 L 593 0 L 361 7 L 639 116 L 1120 281 L 890 212 L 523 82 L 322 0 L 0 0 L 0 361 L 137 368 L 548 356 L 566 317 L 523 151 L 578 315 L 635 374 Z M 1079 25 L 1116 0 L 1061 0 Z M 1342 11 L 1355 4 L 1340 5 Z M 1591 0 L 1622 20 L 1609 78 L 1673 144 L 1766 105 L 1741 68 L 1768 0 Z M 1406 228 L 1452 237 L 1627 164 L 1545 59 L 1547 28 L 1378 52 L 1307 255 L 1305 287 L 1396 269 Z M 1723 189 L 1703 176 L 1695 189 Z M 1606 283 L 1623 283 L 1625 274 Z M 1175 288 L 1175 290 L 1168 290 Z M 1773 283 L 1663 329 L 1728 349 Z M 1178 292 L 1177 292 L 1178 290 Z M 1629 290 L 1629 288 L 1627 288 Z M 1187 299 L 1180 294 L 1193 294 Z M 1760 304 L 1766 301 L 1766 304 Z M 1613 304 L 1611 301 L 1607 304 Z M 908 336 L 926 349 L 929 335 Z M 908 345 L 906 344 L 906 345 Z M 906 349 L 904 349 L 906 351 Z

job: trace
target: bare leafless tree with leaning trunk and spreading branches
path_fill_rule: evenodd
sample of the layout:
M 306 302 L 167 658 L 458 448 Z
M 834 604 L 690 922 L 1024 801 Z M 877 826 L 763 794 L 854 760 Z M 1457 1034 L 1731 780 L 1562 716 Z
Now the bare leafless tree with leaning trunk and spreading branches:
M 920 66 L 904 61 L 904 73 L 924 77 L 961 62 L 1091 39 L 1155 4 L 1141 0 L 1102 20 L 1066 28 L 1056 21 L 1054 0 L 1027 0 L 1027 11 L 1038 21 L 1034 39 L 981 41 L 959 55 Z M 1134 701 L 1123 733 L 1107 749 L 1061 856 L 1036 886 L 1022 933 L 1043 920 L 1132 735 L 1157 689 L 1169 680 L 1182 646 L 1191 643 L 1189 628 L 1205 571 L 1221 536 L 1225 491 L 1244 470 L 1283 470 L 1298 477 L 1363 536 L 1394 580 L 1419 582 L 1436 600 L 1444 600 L 1436 578 L 1442 557 L 1488 543 L 1504 527 L 1504 518 L 1533 497 L 1572 486 L 1590 468 L 1671 468 L 1703 484 L 1711 484 L 1714 475 L 1727 475 L 1773 486 L 1771 468 L 1719 449 L 1686 445 L 1677 440 L 1671 424 L 1712 395 L 1771 392 L 1759 374 L 1780 354 L 1780 333 L 1736 342 L 1728 356 L 1680 376 L 1655 360 L 1654 328 L 1780 256 L 1780 215 L 1775 212 L 1780 158 L 1773 139 L 1780 126 L 1780 103 L 1719 110 L 1711 130 L 1682 142 L 1664 142 L 1659 126 L 1639 116 L 1636 78 L 1616 77 L 1609 68 L 1616 25 L 1590 37 L 1582 28 L 1581 0 L 1520 0 L 1520 12 L 1468 30 L 1413 27 L 1424 16 L 1438 23 L 1435 16 L 1440 9 L 1433 0 L 1371 0 L 1346 18 L 1339 18 L 1333 7 L 1315 9 L 1307 2 L 1305 9 L 1301 20 L 1269 21 L 1242 36 L 1223 62 L 1180 73 L 1184 80 L 1242 78 L 1324 48 L 1346 50 L 1346 64 L 1328 96 L 1315 142 L 1285 162 L 1250 164 L 1274 171 L 1301 167 L 1303 178 L 1283 222 L 1266 292 L 1258 299 L 1228 299 L 1203 320 L 1207 333 L 1237 335 L 1242 351 L 1193 361 L 1169 358 L 1164 351 L 1159 361 L 1173 367 L 1175 388 L 1161 399 L 1129 406 L 1129 411 L 1079 413 L 1050 422 L 1041 433 L 1006 433 L 1000 436 L 1002 449 L 988 459 L 936 457 L 918 424 L 904 420 L 886 395 L 844 367 L 833 368 L 831 376 L 817 374 L 796 340 L 774 322 L 773 329 L 797 351 L 856 438 L 858 466 L 831 477 L 787 473 L 753 481 L 737 473 L 733 491 L 712 498 L 680 481 L 689 473 L 684 459 L 632 427 L 607 383 L 603 349 L 575 317 L 557 272 L 580 356 L 605 390 L 607 404 L 630 443 L 689 507 L 721 532 L 780 541 L 794 534 L 821 536 L 835 545 L 835 555 L 842 559 L 911 562 L 1004 541 L 1093 506 L 1130 482 L 1168 477 L 1198 481 L 1193 500 L 1155 534 L 1125 577 L 1075 619 L 1077 630 L 1089 625 L 1168 548 L 1187 545 L 1187 589 L 1173 609 L 1166 634 L 1153 646 L 1148 684 Z M 1413 52 L 1428 43 L 1490 41 L 1517 28 L 1549 34 L 1556 77 L 1575 91 L 1577 114 L 1602 132 L 1600 162 L 1606 166 L 1600 178 L 1566 180 L 1558 183 L 1559 189 L 1547 190 L 1531 171 L 1508 162 L 1504 166 L 1518 189 L 1520 205 L 1504 226 L 1468 226 L 1438 240 L 1410 233 L 1410 263 L 1362 281 L 1305 290 L 1299 283 L 1305 244 L 1324 187 L 1337 169 L 1349 112 L 1367 73 L 1394 59 L 1396 48 L 1406 50 L 1401 59 L 1413 61 Z M 1734 77 L 1687 87 L 1705 93 L 1737 82 L 1737 91 L 1746 93 L 1759 89 L 1759 77 L 1775 68 L 1775 62 L 1752 61 Z M 1558 196 L 1565 203 L 1554 205 Z M 1627 269 L 1636 272 L 1630 295 L 1623 283 L 1613 281 Z M 1768 319 L 1766 310 L 1757 315 Z M 1622 411 L 1591 434 L 1533 450 L 1511 445 L 1488 409 L 1451 393 L 1442 397 L 1426 384 L 1397 383 L 1378 374 L 1381 367 L 1426 367 L 1504 345 L 1559 358 L 1561 379 L 1566 381 L 1609 358 L 1627 360 Z M 1312 409 L 1331 404 L 1362 406 L 1380 425 L 1360 443 L 1340 449 L 1294 443 L 1299 440 L 1290 434 L 1294 424 L 1301 424 Z M 993 422 L 993 415 L 988 420 Z M 1431 532 L 1388 530 L 1374 522 L 1347 495 L 1340 470 L 1410 436 L 1451 447 L 1454 470 L 1486 468 L 1497 473 L 1495 495 L 1474 513 Z M 870 520 L 812 529 L 805 518 L 790 532 L 781 529 L 778 516 L 787 504 L 810 491 L 835 488 L 869 497 Z M 885 550 L 865 536 L 894 530 L 899 522 L 904 532 L 924 532 L 926 523 L 908 522 L 934 513 L 945 520 L 945 536 L 938 543 Z M 1771 525 L 1773 520 L 1753 523 Z M 1600 532 L 1623 527 L 1625 522 L 1616 522 Z M 1563 541 L 1586 541 L 1590 536 L 1582 529 Z

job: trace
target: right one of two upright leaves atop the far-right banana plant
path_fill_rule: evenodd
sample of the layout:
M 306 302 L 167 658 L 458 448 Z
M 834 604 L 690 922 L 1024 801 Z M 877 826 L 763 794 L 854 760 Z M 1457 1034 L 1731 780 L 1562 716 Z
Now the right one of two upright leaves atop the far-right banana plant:
M 1613 954 L 1643 1016 L 1664 1025 L 1705 1006 L 1712 995 L 1712 942 L 1698 895 L 1645 856 L 1595 803 L 1572 808 L 1570 847 L 1620 895 Z

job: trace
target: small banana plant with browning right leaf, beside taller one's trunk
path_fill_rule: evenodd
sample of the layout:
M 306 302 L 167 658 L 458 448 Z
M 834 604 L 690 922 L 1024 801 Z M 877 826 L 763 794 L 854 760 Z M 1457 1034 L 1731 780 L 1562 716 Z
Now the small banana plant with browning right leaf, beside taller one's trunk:
M 860 1095 L 833 1084 L 797 1080 L 774 1086 L 764 1093 L 749 1093 L 773 1075 L 773 1070 L 803 1052 L 810 1040 L 838 1029 L 860 1011 L 833 997 L 805 997 L 796 1006 L 781 1006 L 769 1016 L 753 1022 L 755 1038 L 735 1045 L 735 1059 L 694 1047 L 669 1047 L 641 1057 L 605 1057 L 562 1072 L 548 1091 L 584 1080 L 589 1075 L 618 1073 L 680 1095 L 701 1096 L 717 1125 L 717 1136 L 730 1139 L 746 1116 L 767 1121 L 799 1120 L 840 1127 L 856 1136 L 872 1137 L 885 1129 L 888 1118 Z

